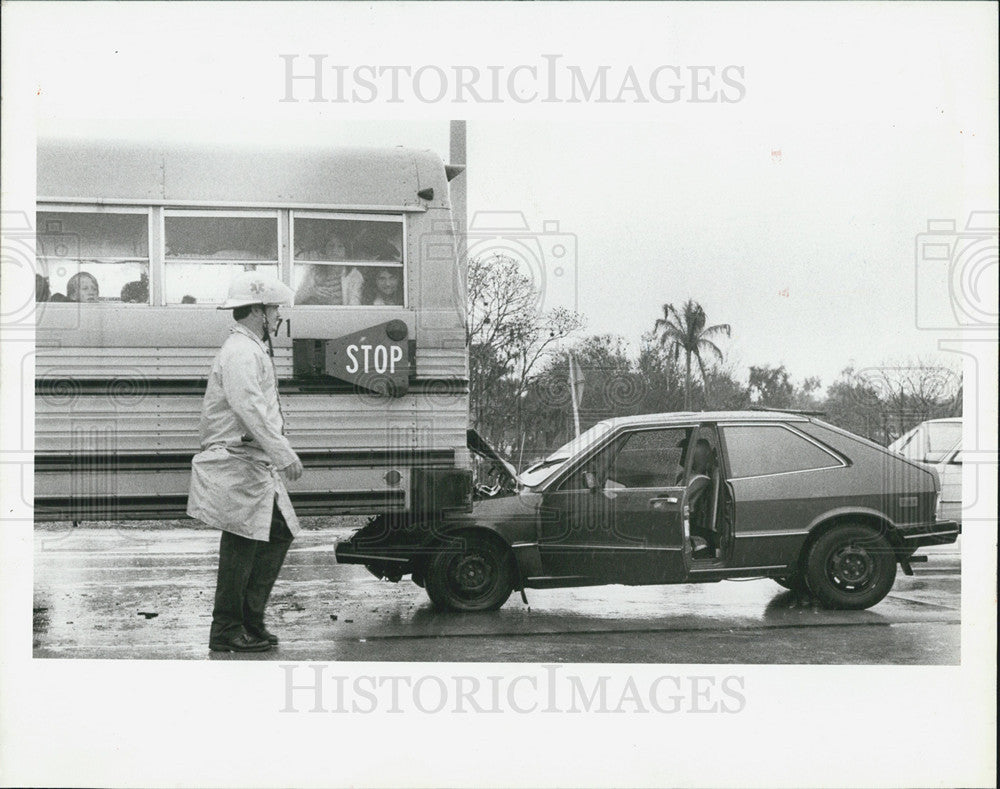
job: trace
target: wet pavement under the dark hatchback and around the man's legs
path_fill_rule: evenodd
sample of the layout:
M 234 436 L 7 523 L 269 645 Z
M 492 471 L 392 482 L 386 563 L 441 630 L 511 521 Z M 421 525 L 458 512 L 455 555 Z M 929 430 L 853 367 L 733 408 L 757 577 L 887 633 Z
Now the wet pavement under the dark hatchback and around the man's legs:
M 281 645 L 208 651 L 218 532 L 46 528 L 35 533 L 34 655 L 45 658 L 557 661 L 602 663 L 960 662 L 960 550 L 927 551 L 868 611 L 827 611 L 768 579 L 529 589 L 499 611 L 441 613 L 404 579 L 339 565 L 350 528 L 303 532 L 269 604 Z

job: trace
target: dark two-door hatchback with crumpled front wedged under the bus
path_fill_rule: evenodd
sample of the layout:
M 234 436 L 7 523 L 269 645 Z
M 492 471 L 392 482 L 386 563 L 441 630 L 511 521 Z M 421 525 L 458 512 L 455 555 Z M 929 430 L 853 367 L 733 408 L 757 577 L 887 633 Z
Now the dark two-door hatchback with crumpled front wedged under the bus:
M 832 608 L 875 605 L 914 551 L 952 543 L 936 472 L 819 419 L 760 411 L 600 422 L 519 477 L 517 495 L 426 522 L 380 518 L 340 562 L 439 607 L 515 589 L 765 576 Z

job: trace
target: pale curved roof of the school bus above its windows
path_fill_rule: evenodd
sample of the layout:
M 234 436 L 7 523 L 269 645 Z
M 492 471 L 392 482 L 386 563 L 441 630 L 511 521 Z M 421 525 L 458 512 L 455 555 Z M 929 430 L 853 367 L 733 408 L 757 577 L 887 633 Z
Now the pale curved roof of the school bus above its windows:
M 427 199 L 433 190 L 433 197 Z M 418 196 L 422 192 L 423 197 Z M 38 200 L 175 206 L 447 208 L 444 164 L 408 148 L 40 140 Z

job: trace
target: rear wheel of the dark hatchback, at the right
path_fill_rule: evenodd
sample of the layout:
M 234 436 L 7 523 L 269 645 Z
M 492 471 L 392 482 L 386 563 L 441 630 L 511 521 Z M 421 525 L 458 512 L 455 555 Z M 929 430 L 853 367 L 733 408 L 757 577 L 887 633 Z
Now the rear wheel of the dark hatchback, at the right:
M 864 526 L 836 526 L 809 550 L 806 581 L 828 608 L 870 608 L 889 593 L 895 580 L 892 546 Z

